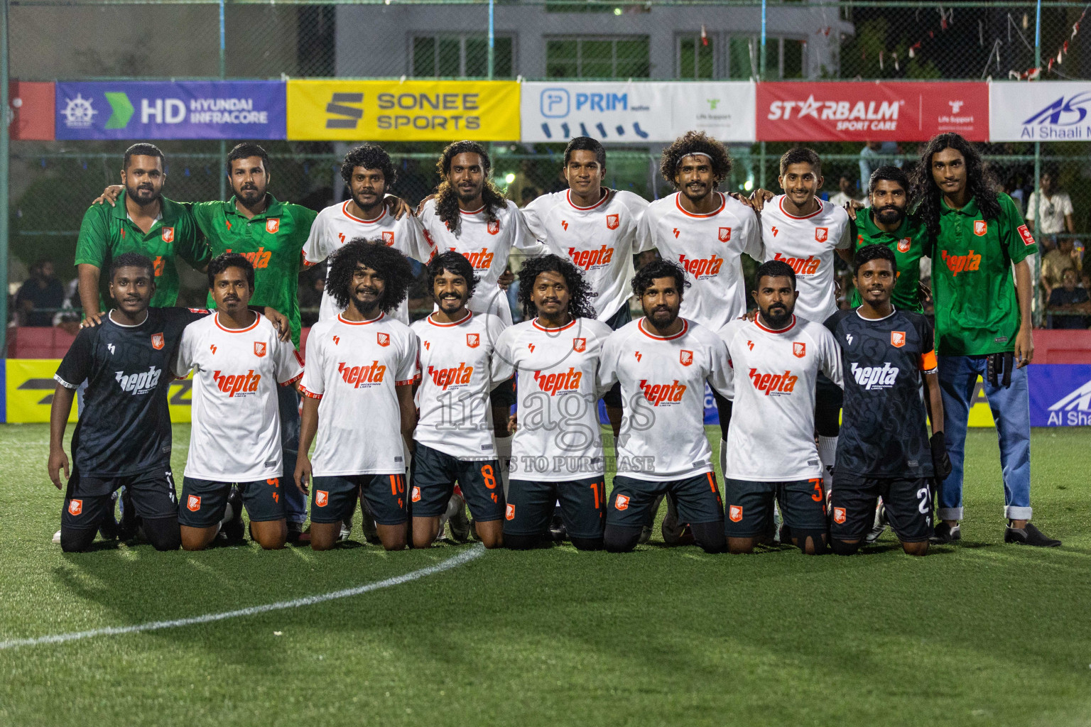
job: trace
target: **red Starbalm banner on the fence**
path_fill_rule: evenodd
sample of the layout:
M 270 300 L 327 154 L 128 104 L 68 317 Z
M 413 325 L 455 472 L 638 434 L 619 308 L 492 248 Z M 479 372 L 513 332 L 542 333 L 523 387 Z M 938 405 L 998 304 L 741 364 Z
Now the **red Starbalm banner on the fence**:
M 759 142 L 924 142 L 945 131 L 988 141 L 988 84 L 757 84 Z

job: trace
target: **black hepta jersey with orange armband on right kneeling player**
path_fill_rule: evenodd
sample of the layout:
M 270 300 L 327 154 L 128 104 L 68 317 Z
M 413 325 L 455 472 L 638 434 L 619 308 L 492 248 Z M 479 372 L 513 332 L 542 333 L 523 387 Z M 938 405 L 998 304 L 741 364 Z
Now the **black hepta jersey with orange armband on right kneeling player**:
M 826 319 L 841 348 L 844 403 L 837 469 L 864 477 L 931 477 L 922 374 L 936 369 L 932 325 L 895 310 L 877 320 L 858 310 Z

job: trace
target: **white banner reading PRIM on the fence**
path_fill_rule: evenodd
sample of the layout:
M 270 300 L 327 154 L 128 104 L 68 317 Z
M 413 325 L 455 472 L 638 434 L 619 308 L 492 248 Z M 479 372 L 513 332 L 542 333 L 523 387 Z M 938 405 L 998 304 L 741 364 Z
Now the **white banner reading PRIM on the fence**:
M 524 142 L 591 136 L 607 144 L 670 143 L 690 130 L 722 142 L 755 138 L 754 84 L 588 82 L 523 84 Z

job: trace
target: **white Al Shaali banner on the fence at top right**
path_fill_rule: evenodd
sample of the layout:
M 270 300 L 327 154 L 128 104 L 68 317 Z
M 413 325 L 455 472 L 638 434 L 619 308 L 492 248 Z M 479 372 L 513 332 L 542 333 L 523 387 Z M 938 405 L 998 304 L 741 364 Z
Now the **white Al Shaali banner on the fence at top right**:
M 991 142 L 1091 141 L 1091 81 L 988 84 Z

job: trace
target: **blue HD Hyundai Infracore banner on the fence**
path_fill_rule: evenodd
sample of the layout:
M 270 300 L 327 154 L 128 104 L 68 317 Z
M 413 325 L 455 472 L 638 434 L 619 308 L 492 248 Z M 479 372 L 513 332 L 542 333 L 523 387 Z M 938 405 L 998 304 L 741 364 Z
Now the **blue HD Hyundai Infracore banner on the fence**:
M 285 136 L 283 81 L 57 84 L 57 138 Z

